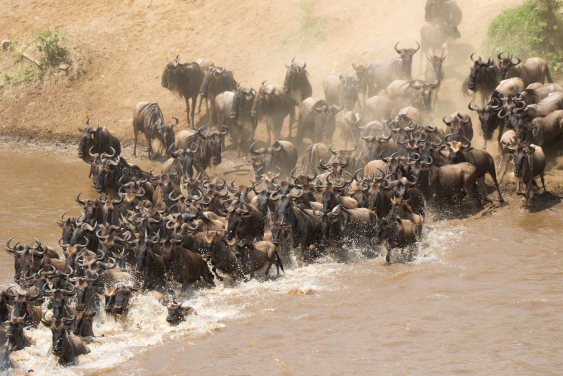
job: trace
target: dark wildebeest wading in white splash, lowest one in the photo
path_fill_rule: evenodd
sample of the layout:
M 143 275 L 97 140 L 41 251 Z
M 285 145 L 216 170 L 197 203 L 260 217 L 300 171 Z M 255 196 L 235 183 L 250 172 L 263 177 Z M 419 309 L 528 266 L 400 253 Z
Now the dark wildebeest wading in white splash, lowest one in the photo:
M 72 324 L 72 321 L 72 319 L 57 319 L 52 325 L 50 322 L 46 324 L 51 327 L 53 334 L 51 353 L 58 358 L 61 365 L 76 364 L 77 356 L 90 353 L 90 348 L 66 329 L 66 326 Z

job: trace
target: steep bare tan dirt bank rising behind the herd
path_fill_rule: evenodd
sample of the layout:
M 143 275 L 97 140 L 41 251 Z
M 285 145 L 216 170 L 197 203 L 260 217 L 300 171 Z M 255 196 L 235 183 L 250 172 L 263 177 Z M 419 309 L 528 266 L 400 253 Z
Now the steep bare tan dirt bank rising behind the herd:
M 4 1 L 1 39 L 33 34 L 45 25 L 69 32 L 89 63 L 78 80 L 22 90 L 0 91 L 0 135 L 68 140 L 86 118 L 99 120 L 125 143 L 132 140 L 132 112 L 139 101 L 156 100 L 166 118 L 185 122 L 185 104 L 160 86 L 167 59 L 206 57 L 233 70 L 243 85 L 282 83 L 284 63 L 307 59 L 314 95 L 322 96 L 327 74 L 345 73 L 350 63 L 395 57 L 393 45 L 414 45 L 424 24 L 424 1 L 317 3 L 326 39 L 281 47 L 295 29 L 298 1 Z M 442 113 L 465 108 L 460 82 L 468 72 L 468 56 L 478 50 L 486 25 L 506 3 L 459 1 L 464 19 L 462 38 L 446 61 Z M 0 53 L 0 59 L 3 54 Z M 414 76 L 419 71 L 415 56 Z M 423 59 L 424 66 L 426 64 Z M 259 126 L 257 137 L 263 136 Z M 282 133 L 284 135 L 284 133 Z

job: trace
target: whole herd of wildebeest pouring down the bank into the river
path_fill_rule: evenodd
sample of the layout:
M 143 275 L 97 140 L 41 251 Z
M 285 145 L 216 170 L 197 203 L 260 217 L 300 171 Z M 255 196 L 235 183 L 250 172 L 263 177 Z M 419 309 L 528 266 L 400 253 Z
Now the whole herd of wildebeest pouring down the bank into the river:
M 30 345 L 23 329 L 40 323 L 52 330 L 51 353 L 62 364 L 74 363 L 89 352 L 81 337 L 94 337 L 96 314 L 104 309 L 126 317 L 138 293 L 167 304 L 167 320 L 175 325 L 195 314 L 174 301 L 175 286 L 182 292 L 195 282 L 213 287 L 223 275 L 247 281 L 258 270 L 268 274 L 272 265 L 279 274 L 282 260 L 308 263 L 351 248 L 368 257 L 386 248 L 387 262 L 410 261 L 432 202 L 447 209 L 469 196 L 480 207 L 488 200 L 487 173 L 503 203 L 493 157 L 472 147 L 468 113 L 444 116 L 444 128 L 425 124 L 444 79 L 444 50 L 459 38 L 461 11 L 453 0 L 428 0 L 426 21 L 416 48 L 397 44 L 399 57 L 391 61 L 352 64 L 346 74 L 326 77 L 325 99 L 313 97 L 306 62 L 286 66 L 283 85 L 263 82 L 255 90 L 207 59 L 169 61 L 161 84 L 185 99 L 192 129 L 175 133 L 178 119 L 165 122 L 157 102 L 139 103 L 133 116 L 133 155 L 139 132 L 149 158 L 158 141 L 169 156 L 160 174 L 120 157 L 120 141 L 105 127 L 88 121 L 79 128 L 79 157 L 90 164 L 101 196 L 78 194 L 81 215 L 63 214 L 58 222 L 60 249 L 37 239 L 7 242 L 17 285 L 1 291 L 2 367 L 11 367 L 11 352 Z M 421 58 L 432 51 L 425 79 L 412 79 L 413 56 L 421 48 Z M 471 60 L 463 84 L 467 95 L 473 92 L 468 109 L 478 114 L 485 145 L 498 128 L 500 181 L 512 161 L 517 191 L 523 182 L 528 204 L 535 177 L 545 190 L 545 155 L 556 156 L 560 148 L 563 86 L 552 83 L 539 57 L 522 62 L 498 54 L 494 61 L 472 54 Z M 195 130 L 198 95 L 200 108 L 206 101 L 209 126 Z M 338 114 L 344 149 L 332 146 Z M 288 116 L 289 134 L 282 140 Z M 261 148 L 253 142 L 259 123 L 268 132 Z M 249 151 L 246 171 L 253 180 L 247 185 L 206 173 L 221 163 L 226 137 L 239 154 Z M 244 175 L 237 167 L 223 176 Z

